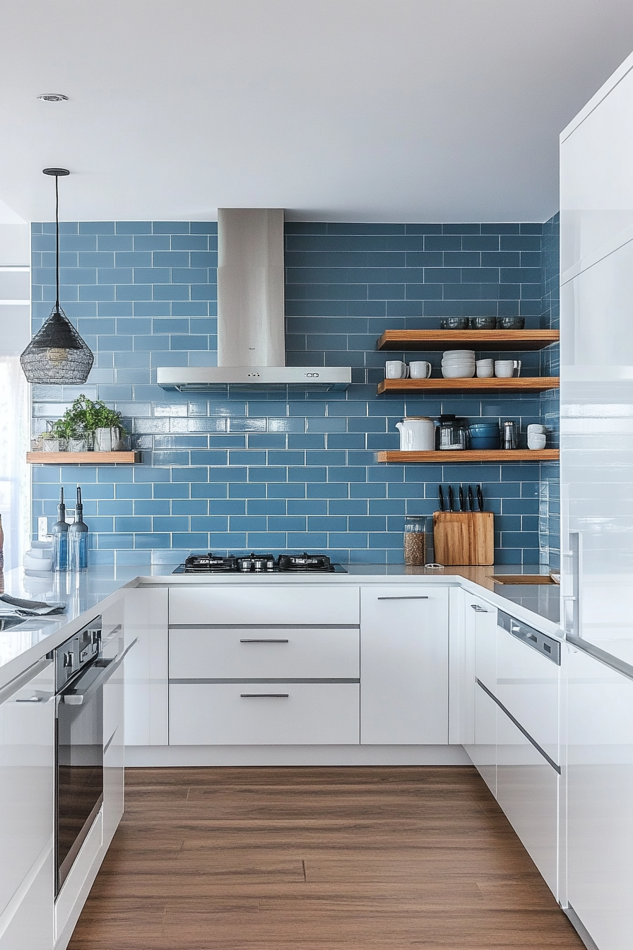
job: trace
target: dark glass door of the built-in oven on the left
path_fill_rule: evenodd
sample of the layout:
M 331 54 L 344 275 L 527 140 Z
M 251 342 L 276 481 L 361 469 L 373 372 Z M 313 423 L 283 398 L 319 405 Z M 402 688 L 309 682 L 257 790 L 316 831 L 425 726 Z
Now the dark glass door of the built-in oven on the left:
M 102 806 L 102 675 L 102 665 L 93 663 L 58 697 L 56 893 Z

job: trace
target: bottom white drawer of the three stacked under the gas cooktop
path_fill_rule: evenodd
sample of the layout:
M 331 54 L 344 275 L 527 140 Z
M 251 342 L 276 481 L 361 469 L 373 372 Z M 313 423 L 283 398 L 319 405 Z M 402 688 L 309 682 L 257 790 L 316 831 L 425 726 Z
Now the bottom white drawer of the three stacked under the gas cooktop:
M 195 683 L 169 688 L 169 741 L 174 746 L 358 745 L 359 733 L 356 683 Z

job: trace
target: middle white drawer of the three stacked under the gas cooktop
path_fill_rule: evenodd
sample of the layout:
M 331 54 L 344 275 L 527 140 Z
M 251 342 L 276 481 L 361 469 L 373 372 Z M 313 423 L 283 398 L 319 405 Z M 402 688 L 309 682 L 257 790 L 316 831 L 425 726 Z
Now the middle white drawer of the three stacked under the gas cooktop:
M 358 679 L 358 630 L 170 630 L 170 679 Z

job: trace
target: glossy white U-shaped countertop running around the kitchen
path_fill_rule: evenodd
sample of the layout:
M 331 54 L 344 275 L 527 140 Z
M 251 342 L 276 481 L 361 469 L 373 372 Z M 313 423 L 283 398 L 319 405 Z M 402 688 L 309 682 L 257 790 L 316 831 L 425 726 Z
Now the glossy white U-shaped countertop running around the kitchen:
M 346 564 L 345 573 L 257 575 L 185 575 L 173 574 L 174 564 L 136 564 L 123 567 L 91 567 L 75 573 L 26 575 L 22 568 L 5 575 L 5 593 L 13 597 L 62 601 L 65 613 L 25 620 L 0 630 L 0 687 L 23 673 L 48 651 L 71 637 L 100 613 L 125 587 L 171 585 L 210 585 L 252 583 L 277 584 L 358 584 L 358 583 L 433 583 L 440 581 L 463 587 L 484 596 L 513 617 L 538 627 L 544 633 L 561 637 L 558 627 L 559 588 L 556 585 L 499 585 L 494 574 L 533 573 L 533 569 L 498 567 L 446 567 L 430 570 L 403 564 Z

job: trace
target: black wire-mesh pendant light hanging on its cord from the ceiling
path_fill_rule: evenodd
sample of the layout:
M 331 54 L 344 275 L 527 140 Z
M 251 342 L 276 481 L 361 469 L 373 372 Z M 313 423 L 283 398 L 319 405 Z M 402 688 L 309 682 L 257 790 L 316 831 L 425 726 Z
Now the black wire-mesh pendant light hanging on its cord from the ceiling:
M 47 322 L 20 356 L 29 383 L 84 383 L 94 356 L 60 307 L 60 218 L 58 180 L 69 175 L 67 168 L 45 168 L 55 177 L 55 267 L 56 294 Z

